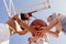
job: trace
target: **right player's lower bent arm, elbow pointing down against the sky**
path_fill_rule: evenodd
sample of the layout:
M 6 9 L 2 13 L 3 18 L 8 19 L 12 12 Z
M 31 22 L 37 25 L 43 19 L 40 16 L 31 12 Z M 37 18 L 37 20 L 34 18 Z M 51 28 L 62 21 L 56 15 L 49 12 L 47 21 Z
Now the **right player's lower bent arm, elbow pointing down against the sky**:
M 54 37 L 58 37 L 59 33 L 62 32 L 62 26 L 61 26 L 61 22 L 58 22 L 58 24 L 55 25 L 56 31 L 50 31 L 48 34 L 51 34 Z

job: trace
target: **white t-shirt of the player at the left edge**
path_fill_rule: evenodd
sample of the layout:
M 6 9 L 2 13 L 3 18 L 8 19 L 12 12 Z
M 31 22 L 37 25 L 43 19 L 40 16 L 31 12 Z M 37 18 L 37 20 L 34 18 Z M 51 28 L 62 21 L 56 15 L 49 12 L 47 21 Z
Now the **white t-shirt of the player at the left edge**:
M 0 44 L 9 44 L 10 30 L 8 24 L 0 23 Z

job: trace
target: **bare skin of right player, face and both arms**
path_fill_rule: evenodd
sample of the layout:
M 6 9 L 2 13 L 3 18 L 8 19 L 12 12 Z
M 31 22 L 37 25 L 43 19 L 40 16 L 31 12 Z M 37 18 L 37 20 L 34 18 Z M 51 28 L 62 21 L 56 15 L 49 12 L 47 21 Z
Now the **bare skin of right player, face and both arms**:
M 53 16 L 55 20 L 53 20 Z M 53 32 L 53 31 L 48 31 L 47 33 L 54 37 L 58 37 L 59 36 L 59 32 L 62 32 L 62 16 L 57 16 L 56 13 L 53 13 L 53 15 L 50 18 L 47 18 L 47 22 L 50 23 L 50 26 L 52 25 L 52 23 L 55 23 L 53 24 L 51 28 L 48 26 L 43 26 L 42 29 L 45 29 L 45 30 L 51 30 L 52 28 L 55 26 L 56 31 Z M 44 33 L 44 32 L 43 32 Z

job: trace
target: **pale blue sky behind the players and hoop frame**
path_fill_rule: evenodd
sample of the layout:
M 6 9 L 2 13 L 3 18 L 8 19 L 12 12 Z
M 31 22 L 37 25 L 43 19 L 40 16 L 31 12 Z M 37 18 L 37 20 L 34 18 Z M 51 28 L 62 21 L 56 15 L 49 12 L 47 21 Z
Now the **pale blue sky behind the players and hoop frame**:
M 8 0 L 7 0 L 8 1 Z M 31 6 L 31 4 L 35 4 L 38 2 L 43 2 L 44 0 L 13 0 L 14 3 L 14 8 L 15 9 L 20 9 L 22 7 L 26 7 L 26 6 Z M 9 1 L 8 1 L 9 4 Z M 47 22 L 47 16 L 51 15 L 53 12 L 56 13 L 63 13 L 66 14 L 66 0 L 50 0 L 50 4 L 51 4 L 51 9 L 47 10 L 43 10 L 43 11 L 38 11 L 33 13 L 34 16 L 36 16 L 37 19 L 41 19 L 45 22 Z M 21 10 L 18 11 L 16 13 L 21 13 L 21 12 L 30 12 L 36 9 L 41 9 L 44 6 L 37 6 L 35 8 L 30 8 L 26 10 Z M 4 8 L 3 1 L 0 0 L 0 23 L 4 23 L 9 20 L 8 15 L 7 15 L 7 10 Z M 55 29 L 52 29 L 55 30 Z M 28 38 L 31 36 L 31 33 L 26 33 L 25 35 L 19 35 L 19 34 L 14 34 L 11 35 L 10 37 L 10 44 L 29 44 Z M 51 44 L 66 44 L 66 35 L 62 32 L 59 37 L 53 37 L 51 35 L 47 36 L 51 40 Z

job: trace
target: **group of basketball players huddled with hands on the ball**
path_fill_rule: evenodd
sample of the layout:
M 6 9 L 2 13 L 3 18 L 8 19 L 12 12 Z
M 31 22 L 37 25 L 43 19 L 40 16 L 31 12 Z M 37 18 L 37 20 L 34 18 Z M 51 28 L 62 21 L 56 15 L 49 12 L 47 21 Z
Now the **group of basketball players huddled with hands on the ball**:
M 48 33 L 54 37 L 58 37 L 62 31 L 66 33 L 66 16 L 62 13 L 53 13 L 50 15 L 47 18 L 48 25 L 41 19 L 35 19 L 29 25 L 29 21 L 34 12 L 36 11 L 15 14 L 6 23 L 0 23 L 0 44 L 4 44 L 4 42 L 9 44 L 10 35 L 15 33 L 24 35 L 28 32 L 31 32 L 32 36 L 29 37 L 29 44 L 51 44 L 45 33 Z M 53 28 L 56 29 L 55 32 L 51 31 Z

